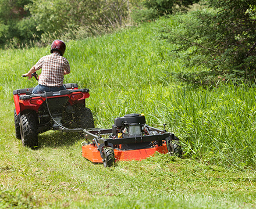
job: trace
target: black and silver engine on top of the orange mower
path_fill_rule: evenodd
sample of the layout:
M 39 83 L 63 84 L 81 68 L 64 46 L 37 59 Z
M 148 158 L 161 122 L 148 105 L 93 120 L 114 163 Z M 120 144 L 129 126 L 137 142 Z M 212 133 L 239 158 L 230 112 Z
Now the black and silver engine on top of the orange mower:
M 112 127 L 113 136 L 118 138 L 143 136 L 145 123 L 145 116 L 136 113 L 115 118 Z

